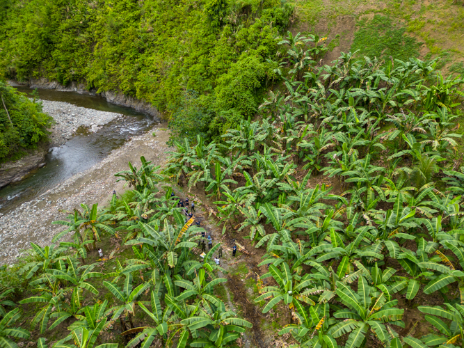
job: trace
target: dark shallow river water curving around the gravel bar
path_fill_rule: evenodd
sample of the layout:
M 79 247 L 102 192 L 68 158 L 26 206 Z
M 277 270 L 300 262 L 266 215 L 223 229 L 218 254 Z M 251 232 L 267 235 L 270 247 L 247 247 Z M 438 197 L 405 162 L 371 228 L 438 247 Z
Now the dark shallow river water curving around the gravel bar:
M 16 88 L 23 93 L 32 92 L 27 87 Z M 68 102 L 88 109 L 121 113 L 125 117 L 109 122 L 96 133 L 86 132 L 85 129 L 79 132 L 78 129 L 77 136 L 64 145 L 51 148 L 45 156 L 45 167 L 33 171 L 21 182 L 10 184 L 0 190 L 2 213 L 27 200 L 37 198 L 72 175 L 86 171 L 104 159 L 111 150 L 119 148 L 130 136 L 145 132 L 157 122 L 145 113 L 106 102 L 106 99 L 99 95 L 45 89 L 38 90 L 38 93 L 42 100 Z

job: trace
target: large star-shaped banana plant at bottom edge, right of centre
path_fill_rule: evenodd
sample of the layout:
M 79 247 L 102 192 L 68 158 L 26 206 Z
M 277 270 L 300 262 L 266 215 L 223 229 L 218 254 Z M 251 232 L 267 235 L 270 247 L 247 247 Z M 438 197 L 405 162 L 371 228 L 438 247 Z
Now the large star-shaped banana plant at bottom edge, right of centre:
M 383 292 L 371 297 L 371 287 L 364 277 L 358 280 L 358 292 L 341 282 L 337 282 L 335 292 L 339 301 L 347 308 L 337 310 L 333 314 L 335 318 L 344 320 L 333 326 L 328 333 L 333 338 L 349 333 L 345 347 L 357 348 L 365 345 L 369 329 L 374 331 L 378 340 L 387 342 L 390 340 L 391 325 L 405 327 L 401 321 L 404 310 L 394 307 L 398 300 L 390 301 Z M 385 324 L 390 326 L 388 331 Z

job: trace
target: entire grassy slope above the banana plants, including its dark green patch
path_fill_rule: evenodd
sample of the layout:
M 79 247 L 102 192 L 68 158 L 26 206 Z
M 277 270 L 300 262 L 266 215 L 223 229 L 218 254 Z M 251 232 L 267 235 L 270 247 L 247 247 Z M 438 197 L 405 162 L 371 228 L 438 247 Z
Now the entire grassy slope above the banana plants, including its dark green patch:
M 382 52 L 383 56 L 391 54 L 394 58 L 435 58 L 445 52 L 449 54 L 446 68 L 464 73 L 464 6 L 453 2 L 303 0 L 296 5 L 298 22 L 294 31 L 329 34 L 335 41 L 333 47 L 341 42 L 351 43 L 354 38 L 351 52 L 361 49 L 360 56 L 378 56 Z M 339 30 L 337 24 L 343 26 L 346 17 L 358 21 L 354 31 L 347 26 L 335 32 L 334 28 Z M 342 35 L 345 30 L 348 32 Z M 335 35 L 340 35 L 338 40 Z M 419 42 L 424 42 L 423 47 Z

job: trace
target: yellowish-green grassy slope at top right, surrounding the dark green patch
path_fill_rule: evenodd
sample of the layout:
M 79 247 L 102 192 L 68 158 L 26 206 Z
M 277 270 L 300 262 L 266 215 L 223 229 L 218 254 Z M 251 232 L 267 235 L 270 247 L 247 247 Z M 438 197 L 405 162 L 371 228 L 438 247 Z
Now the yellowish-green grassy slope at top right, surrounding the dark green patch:
M 297 1 L 294 31 L 339 35 L 339 46 L 330 58 L 351 48 L 361 19 L 385 15 L 406 27 L 406 35 L 423 42 L 419 56 L 442 56 L 447 68 L 463 67 L 464 6 L 454 0 L 302 0 Z M 328 61 L 328 60 L 327 60 Z M 464 69 L 462 70 L 464 72 Z

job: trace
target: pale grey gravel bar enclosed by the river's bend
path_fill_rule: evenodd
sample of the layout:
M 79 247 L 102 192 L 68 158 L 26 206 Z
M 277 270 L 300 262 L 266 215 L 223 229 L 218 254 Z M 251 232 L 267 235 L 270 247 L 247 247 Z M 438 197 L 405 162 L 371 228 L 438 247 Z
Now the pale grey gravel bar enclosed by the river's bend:
M 97 132 L 106 123 L 122 117 L 119 113 L 87 109 L 66 102 L 50 100 L 41 100 L 41 102 L 43 111 L 56 121 L 56 125 L 50 129 L 50 146 L 63 145 L 72 138 L 79 127 L 88 128 L 90 132 Z

